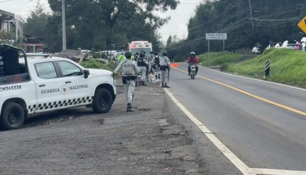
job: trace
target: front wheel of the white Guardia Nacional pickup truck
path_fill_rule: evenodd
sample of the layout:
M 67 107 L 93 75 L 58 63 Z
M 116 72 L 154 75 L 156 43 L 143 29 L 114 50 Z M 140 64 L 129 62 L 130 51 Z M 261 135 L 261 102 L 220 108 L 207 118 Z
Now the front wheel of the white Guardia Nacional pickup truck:
M 96 113 L 106 113 L 110 111 L 113 104 L 113 97 L 109 90 L 100 88 L 95 92 L 92 109 Z

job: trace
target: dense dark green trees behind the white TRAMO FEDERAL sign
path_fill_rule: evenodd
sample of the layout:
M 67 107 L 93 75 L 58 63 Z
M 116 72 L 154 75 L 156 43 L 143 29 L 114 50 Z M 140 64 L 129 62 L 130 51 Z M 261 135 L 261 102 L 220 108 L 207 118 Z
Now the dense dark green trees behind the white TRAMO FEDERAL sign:
M 304 16 L 306 0 L 218 0 L 206 1 L 196 8 L 188 23 L 188 37 L 167 46 L 175 58 L 183 59 L 190 50 L 201 54 L 207 51 L 206 33 L 227 33 L 226 50 L 235 51 L 254 46 L 266 47 L 270 40 L 300 40 L 296 27 Z M 253 25 L 252 25 L 253 24 Z M 222 42 L 210 41 L 211 51 L 222 51 Z M 184 51 L 185 50 L 185 51 Z M 189 50 L 189 51 L 188 51 Z M 184 51 L 184 52 L 183 52 Z

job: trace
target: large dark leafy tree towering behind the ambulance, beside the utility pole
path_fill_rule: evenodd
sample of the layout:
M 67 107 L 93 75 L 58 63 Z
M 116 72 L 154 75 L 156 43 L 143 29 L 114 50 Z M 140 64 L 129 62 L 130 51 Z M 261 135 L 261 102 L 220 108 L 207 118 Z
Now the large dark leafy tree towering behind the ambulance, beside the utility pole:
M 61 4 L 48 0 L 54 16 L 61 16 Z M 159 46 L 156 29 L 169 18 L 154 11 L 175 9 L 177 1 L 149 0 L 66 0 L 67 47 L 92 44 L 106 49 L 112 43 L 127 43 L 134 38 L 149 40 Z M 51 20 L 56 20 L 52 18 Z M 60 24 L 60 21 L 49 21 Z M 61 26 L 58 25 L 58 28 Z M 104 42 L 104 43 L 103 43 Z

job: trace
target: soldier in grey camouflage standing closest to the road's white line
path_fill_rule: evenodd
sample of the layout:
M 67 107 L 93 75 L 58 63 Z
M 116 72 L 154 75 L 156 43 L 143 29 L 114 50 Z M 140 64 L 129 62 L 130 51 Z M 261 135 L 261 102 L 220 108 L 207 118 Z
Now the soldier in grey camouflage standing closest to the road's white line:
M 169 71 L 170 71 L 170 60 L 167 57 L 167 52 L 162 52 L 162 57 L 159 58 L 160 64 L 160 74 L 162 75 L 162 87 L 170 88 L 168 86 L 168 79 L 169 79 Z

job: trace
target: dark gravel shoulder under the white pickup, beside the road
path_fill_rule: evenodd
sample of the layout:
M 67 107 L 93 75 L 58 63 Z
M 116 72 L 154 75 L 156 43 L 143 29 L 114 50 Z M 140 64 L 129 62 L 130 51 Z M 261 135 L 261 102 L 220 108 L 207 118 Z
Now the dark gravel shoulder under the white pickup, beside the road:
M 136 87 L 134 106 L 118 86 L 107 114 L 73 108 L 1 131 L 0 174 L 239 174 L 157 83 Z

